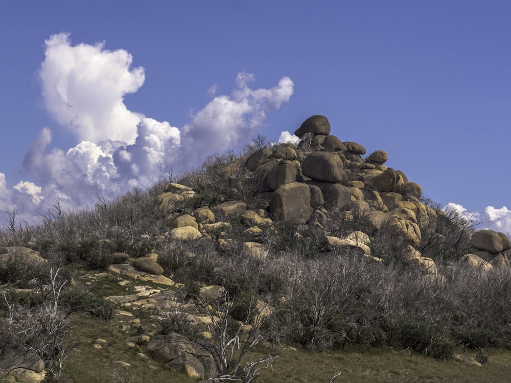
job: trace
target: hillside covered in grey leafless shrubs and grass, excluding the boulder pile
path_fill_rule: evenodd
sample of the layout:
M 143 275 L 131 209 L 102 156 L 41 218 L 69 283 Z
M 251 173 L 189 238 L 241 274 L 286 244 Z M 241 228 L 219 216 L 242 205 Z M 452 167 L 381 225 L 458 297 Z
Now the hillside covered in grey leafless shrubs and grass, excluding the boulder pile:
M 438 213 L 434 232 L 423 228 L 416 249 L 434 261 L 435 278 L 403 256 L 405 244 L 390 246 L 375 235 L 364 214 L 346 220 L 343 211 L 332 210 L 323 224 L 255 224 L 264 257 L 254 257 L 244 245 L 247 225 L 239 216 L 226 219 L 228 225 L 209 238 L 179 241 L 168 235 L 176 217 L 229 200 L 264 217 L 268 200 L 254 193 L 257 180 L 244 166 L 261 144 L 210 158 L 179 179 L 115 201 L 99 199 L 89 211 L 63 211 L 57 203 L 38 226 L 12 217 L 0 231 L 3 253 L 24 247 L 45 261 L 0 260 L 0 344 L 35 350 L 46 364 L 46 382 L 195 381 L 148 356 L 147 340 L 131 338 L 178 332 L 198 340 L 209 333 L 221 349 L 225 344 L 215 338 L 215 326 L 195 319 L 224 313 L 223 329 L 227 337 L 239 335 L 241 347 L 260 336 L 242 359 L 243 365 L 261 362 L 252 372 L 265 367 L 252 376 L 260 382 L 328 382 L 335 372 L 337 381 L 350 382 L 503 381 L 511 346 L 511 272 L 459 262 L 471 252 L 472 229 L 453 211 Z M 195 193 L 164 211 L 155 200 L 169 182 Z M 400 192 L 406 199 L 407 190 Z M 366 185 L 361 193 L 370 196 L 374 189 Z M 439 211 L 428 199 L 421 203 Z M 357 230 L 370 235 L 373 258 L 357 249 L 326 248 L 326 235 Z M 116 253 L 127 254 L 128 261 L 158 254 L 162 275 L 175 284 L 106 272 Z M 225 301 L 201 299 L 209 285 L 222 286 Z M 136 295 L 139 286 L 171 291 L 174 306 L 144 301 Z M 453 360 L 459 353 L 483 366 Z

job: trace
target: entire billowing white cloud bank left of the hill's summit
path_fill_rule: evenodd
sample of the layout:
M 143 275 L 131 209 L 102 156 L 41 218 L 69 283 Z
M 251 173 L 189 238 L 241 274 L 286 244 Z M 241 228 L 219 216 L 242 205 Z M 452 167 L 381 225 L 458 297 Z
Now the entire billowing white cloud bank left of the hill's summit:
M 39 72 L 44 105 L 77 143 L 52 148 L 52 130 L 42 128 L 21 166 L 35 183 L 10 187 L 0 173 L 0 207 L 19 206 L 24 217 L 33 218 L 56 200 L 62 208 L 80 209 L 92 207 L 98 196 L 112 199 L 135 186 L 151 186 L 169 172 L 177 175 L 208 155 L 249 142 L 267 113 L 293 93 L 288 77 L 254 89 L 249 86 L 254 76 L 242 72 L 230 95 L 216 95 L 177 128 L 126 108 L 125 95 L 145 79 L 144 69 L 131 64 L 127 51 L 106 50 L 104 42 L 72 45 L 67 33 L 45 41 Z M 209 91 L 215 95 L 218 86 Z

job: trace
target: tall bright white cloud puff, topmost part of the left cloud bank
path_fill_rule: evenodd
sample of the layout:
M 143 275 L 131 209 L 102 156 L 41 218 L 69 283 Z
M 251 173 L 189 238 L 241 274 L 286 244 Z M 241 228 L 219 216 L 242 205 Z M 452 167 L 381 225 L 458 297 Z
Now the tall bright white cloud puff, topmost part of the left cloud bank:
M 131 68 L 128 52 L 105 50 L 104 42 L 73 46 L 68 33 L 45 44 L 39 75 L 44 104 L 56 121 L 80 140 L 133 143 L 143 115 L 127 110 L 123 99 L 144 84 L 144 68 Z

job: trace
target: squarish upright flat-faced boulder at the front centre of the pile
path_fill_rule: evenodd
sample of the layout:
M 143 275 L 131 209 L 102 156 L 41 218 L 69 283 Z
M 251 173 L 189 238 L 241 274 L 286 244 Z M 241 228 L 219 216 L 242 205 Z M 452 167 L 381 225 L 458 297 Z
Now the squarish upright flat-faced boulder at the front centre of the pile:
M 270 211 L 274 220 L 305 224 L 311 217 L 309 186 L 299 182 L 280 186 L 271 196 Z

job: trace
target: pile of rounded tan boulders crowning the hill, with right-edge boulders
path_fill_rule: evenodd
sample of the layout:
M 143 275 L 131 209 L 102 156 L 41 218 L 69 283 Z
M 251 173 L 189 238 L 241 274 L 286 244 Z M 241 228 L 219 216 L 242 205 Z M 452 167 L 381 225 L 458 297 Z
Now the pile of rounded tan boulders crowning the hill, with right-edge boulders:
M 402 171 L 385 166 L 386 151 L 362 158 L 366 154 L 362 145 L 342 142 L 330 131 L 327 117 L 313 115 L 295 131 L 300 138 L 297 146 L 285 143 L 271 150 L 265 146 L 226 166 L 226 174 L 240 167 L 250 172 L 246 177 L 253 184 L 254 195 L 267 201 L 264 209 L 247 210 L 243 201 L 228 201 L 180 215 L 175 203 L 194 196 L 195 190 L 167 184 L 155 203 L 170 222 L 169 235 L 180 240 L 215 240 L 221 250 L 226 240 L 214 233 L 230 225 L 223 222 L 226 217 L 239 217 L 247 226 L 247 237 L 255 243 L 262 242 L 261 225 L 274 230 L 273 221 L 312 224 L 324 232 L 324 250 L 353 247 L 382 261 L 381 256 L 371 256 L 368 246 L 371 237 L 378 237 L 389 248 L 401 249 L 403 256 L 425 273 L 436 276 L 433 259 L 421 256 L 418 250 L 424 237 L 428 248 L 445 244 L 444 228 L 437 228 L 439 220 L 445 221 L 445 212 L 421 200 L 419 184 L 410 182 Z M 353 231 L 343 238 L 332 236 L 326 229 L 332 214 L 344 221 L 366 218 L 374 230 Z M 246 245 L 258 248 L 251 242 Z M 486 269 L 509 266 L 511 242 L 504 233 L 480 230 L 472 236 L 472 247 L 473 252 L 459 254 L 459 258 Z

